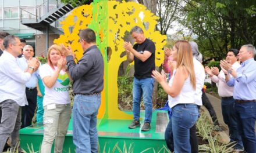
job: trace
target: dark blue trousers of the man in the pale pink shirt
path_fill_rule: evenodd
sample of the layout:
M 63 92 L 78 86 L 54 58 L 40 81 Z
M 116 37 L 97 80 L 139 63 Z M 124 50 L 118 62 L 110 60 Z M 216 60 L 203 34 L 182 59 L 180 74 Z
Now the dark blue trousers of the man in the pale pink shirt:
M 237 141 L 237 144 L 234 146 L 234 148 L 242 150 L 243 142 L 237 129 L 237 119 L 236 113 L 234 112 L 234 103 L 235 100 L 233 97 L 230 97 L 229 99 L 221 99 L 222 116 L 223 121 L 229 127 L 230 142 Z

